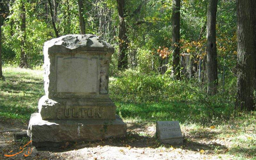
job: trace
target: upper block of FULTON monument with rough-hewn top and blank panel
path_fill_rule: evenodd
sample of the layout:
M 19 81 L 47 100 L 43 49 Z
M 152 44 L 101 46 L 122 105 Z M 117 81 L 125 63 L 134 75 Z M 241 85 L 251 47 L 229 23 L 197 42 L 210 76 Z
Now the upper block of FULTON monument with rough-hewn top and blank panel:
M 108 98 L 114 48 L 94 35 L 66 35 L 44 43 L 44 90 L 53 98 Z

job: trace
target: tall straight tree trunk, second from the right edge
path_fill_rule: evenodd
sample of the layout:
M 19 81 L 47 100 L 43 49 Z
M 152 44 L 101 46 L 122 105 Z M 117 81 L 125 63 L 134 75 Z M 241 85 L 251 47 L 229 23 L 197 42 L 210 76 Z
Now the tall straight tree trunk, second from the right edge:
M 207 11 L 207 93 L 216 94 L 218 85 L 216 13 L 218 0 L 209 0 Z

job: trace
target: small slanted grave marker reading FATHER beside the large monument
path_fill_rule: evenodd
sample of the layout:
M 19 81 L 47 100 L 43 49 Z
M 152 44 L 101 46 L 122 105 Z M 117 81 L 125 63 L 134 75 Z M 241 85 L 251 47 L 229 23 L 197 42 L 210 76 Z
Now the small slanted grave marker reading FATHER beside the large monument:
M 178 121 L 157 121 L 156 137 L 162 143 L 183 145 L 183 136 Z

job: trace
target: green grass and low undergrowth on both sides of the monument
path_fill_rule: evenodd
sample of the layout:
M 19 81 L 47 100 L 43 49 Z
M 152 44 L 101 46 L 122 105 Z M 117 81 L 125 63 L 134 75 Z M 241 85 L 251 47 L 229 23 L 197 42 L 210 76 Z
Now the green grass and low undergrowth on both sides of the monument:
M 38 100 L 44 95 L 43 71 L 4 67 L 3 72 L 0 118 L 27 122 L 31 113 L 37 112 Z M 228 150 L 216 147 L 215 154 L 256 160 L 256 112 L 232 110 L 232 88 L 226 93 L 207 96 L 202 88 L 188 82 L 165 79 L 163 83 L 158 82 L 162 77 L 152 76 L 151 81 L 150 77 L 144 79 L 146 76 L 110 78 L 110 97 L 117 106 L 116 113 L 124 120 L 134 123 L 178 120 L 190 135 L 227 140 Z M 210 129 L 211 125 L 216 128 Z

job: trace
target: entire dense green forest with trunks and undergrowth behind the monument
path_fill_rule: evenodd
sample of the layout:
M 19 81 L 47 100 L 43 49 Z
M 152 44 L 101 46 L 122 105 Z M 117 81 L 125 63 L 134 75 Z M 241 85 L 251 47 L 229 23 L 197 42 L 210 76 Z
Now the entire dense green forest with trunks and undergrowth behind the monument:
M 180 7 L 173 5 L 177 2 Z M 116 86 L 112 92 L 120 93 L 114 99 L 123 95 L 122 101 L 191 100 L 208 106 L 210 117 L 229 117 L 234 109 L 255 108 L 252 103 L 244 106 L 237 102 L 237 77 L 242 73 L 237 70 L 239 5 L 235 0 L 4 0 L 2 62 L 40 68 L 47 40 L 67 34 L 95 34 L 115 47 L 110 74 L 122 78 L 112 82 Z M 254 10 L 249 8 L 251 19 Z M 173 27 L 177 24 L 178 41 Z M 214 29 L 217 61 L 213 65 L 211 59 L 207 62 L 206 32 Z M 211 66 L 216 70 L 212 78 L 207 75 Z M 255 104 L 253 87 L 248 96 Z

